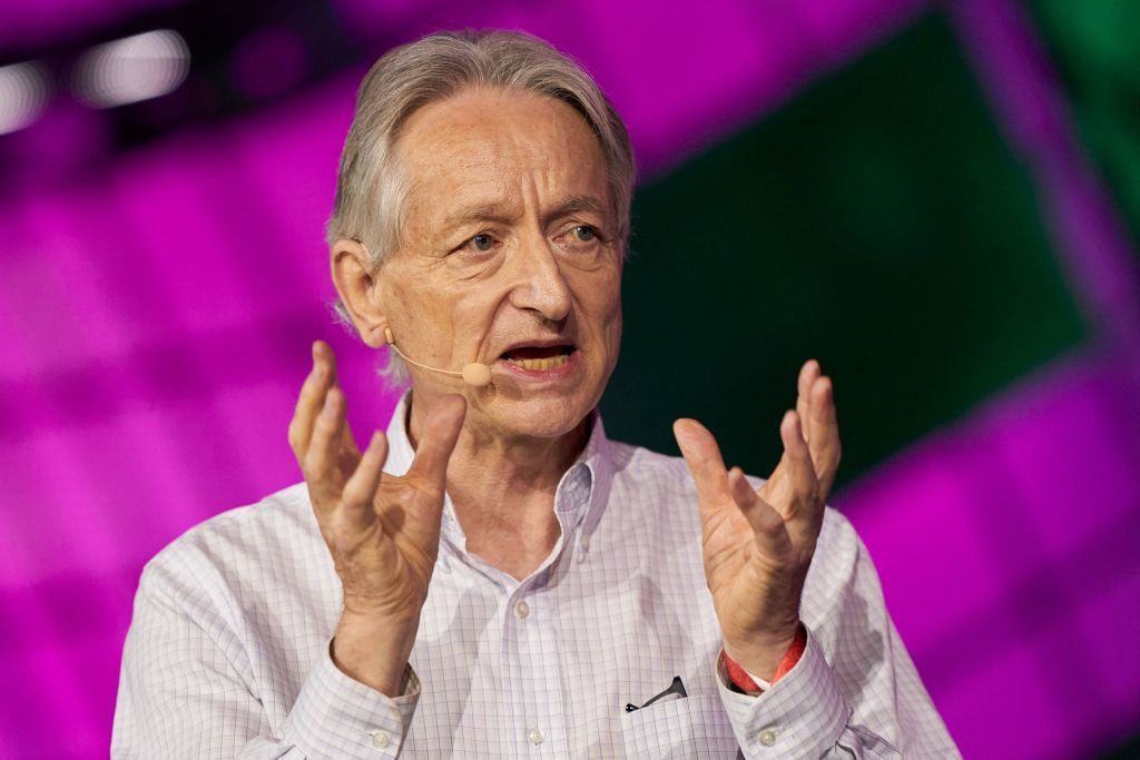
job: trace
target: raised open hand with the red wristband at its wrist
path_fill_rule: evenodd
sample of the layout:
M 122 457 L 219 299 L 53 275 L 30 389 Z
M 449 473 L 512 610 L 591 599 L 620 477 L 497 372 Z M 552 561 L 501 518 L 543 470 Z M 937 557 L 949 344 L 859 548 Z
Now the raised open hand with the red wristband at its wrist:
M 725 469 L 716 439 L 700 423 L 674 424 L 697 483 L 705 575 L 725 652 L 765 679 L 796 636 L 804 581 L 839 466 L 831 379 L 808 361 L 798 390 L 796 409 L 780 424 L 783 455 L 759 490 L 739 467 Z

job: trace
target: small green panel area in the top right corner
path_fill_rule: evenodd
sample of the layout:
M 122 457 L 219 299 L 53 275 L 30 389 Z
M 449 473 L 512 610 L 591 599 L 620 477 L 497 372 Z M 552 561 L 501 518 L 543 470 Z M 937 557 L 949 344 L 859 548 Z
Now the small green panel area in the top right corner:
M 1140 2 L 1035 0 L 1091 160 L 1140 240 Z

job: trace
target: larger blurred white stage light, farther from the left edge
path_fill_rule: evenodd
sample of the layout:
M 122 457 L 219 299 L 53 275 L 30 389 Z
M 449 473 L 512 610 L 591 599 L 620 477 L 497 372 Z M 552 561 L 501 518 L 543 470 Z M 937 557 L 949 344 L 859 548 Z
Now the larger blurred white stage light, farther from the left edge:
M 75 65 L 75 95 L 99 108 L 172 92 L 190 71 L 182 35 L 157 30 L 91 48 Z

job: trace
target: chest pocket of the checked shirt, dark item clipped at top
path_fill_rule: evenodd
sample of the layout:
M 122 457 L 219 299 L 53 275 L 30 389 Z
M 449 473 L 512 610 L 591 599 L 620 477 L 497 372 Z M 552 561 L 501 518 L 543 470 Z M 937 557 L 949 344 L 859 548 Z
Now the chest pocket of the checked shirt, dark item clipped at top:
M 719 696 L 690 696 L 621 716 L 627 758 L 730 760 L 742 757 Z

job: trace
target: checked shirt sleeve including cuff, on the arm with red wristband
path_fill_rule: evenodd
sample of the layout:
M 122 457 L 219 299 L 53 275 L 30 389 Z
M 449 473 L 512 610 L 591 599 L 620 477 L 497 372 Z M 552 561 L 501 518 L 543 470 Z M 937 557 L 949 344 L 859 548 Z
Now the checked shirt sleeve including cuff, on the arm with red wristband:
M 806 647 L 759 695 L 717 685 L 746 758 L 960 758 L 887 613 L 866 547 L 832 517 L 805 590 Z M 814 575 L 814 578 L 813 578 Z

